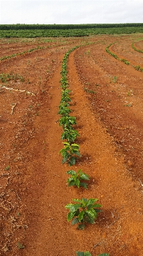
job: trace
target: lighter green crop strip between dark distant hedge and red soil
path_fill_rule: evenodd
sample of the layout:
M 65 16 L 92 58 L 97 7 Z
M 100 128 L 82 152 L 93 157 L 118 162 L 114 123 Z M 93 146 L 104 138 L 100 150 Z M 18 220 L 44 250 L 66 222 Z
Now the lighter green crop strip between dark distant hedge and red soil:
M 68 37 L 89 35 L 114 35 L 143 33 L 142 26 L 120 26 L 102 28 L 65 28 L 65 29 L 0 29 L 1 38 Z

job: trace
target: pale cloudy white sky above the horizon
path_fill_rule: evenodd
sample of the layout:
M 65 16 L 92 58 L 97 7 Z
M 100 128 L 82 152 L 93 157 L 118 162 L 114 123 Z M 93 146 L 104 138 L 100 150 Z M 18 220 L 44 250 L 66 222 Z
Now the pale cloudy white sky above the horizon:
M 143 23 L 143 0 L 0 0 L 0 24 Z

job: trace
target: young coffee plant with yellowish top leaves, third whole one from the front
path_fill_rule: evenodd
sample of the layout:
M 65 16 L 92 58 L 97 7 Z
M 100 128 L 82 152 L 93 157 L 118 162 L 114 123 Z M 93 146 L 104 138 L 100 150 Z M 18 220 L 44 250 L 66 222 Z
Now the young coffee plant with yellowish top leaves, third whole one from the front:
M 62 163 L 68 163 L 69 166 L 75 164 L 77 156 L 80 157 L 79 145 L 75 143 L 63 142 L 64 148 L 62 148 L 59 153 L 63 156 Z

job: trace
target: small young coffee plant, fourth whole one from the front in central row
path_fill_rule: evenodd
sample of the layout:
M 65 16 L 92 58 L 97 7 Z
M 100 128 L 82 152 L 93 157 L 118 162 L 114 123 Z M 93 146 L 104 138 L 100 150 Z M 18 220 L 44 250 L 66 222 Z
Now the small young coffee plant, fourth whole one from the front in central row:
M 73 128 L 64 128 L 63 133 L 61 134 L 61 140 L 67 140 L 68 143 L 72 143 L 79 136 L 79 132 Z

